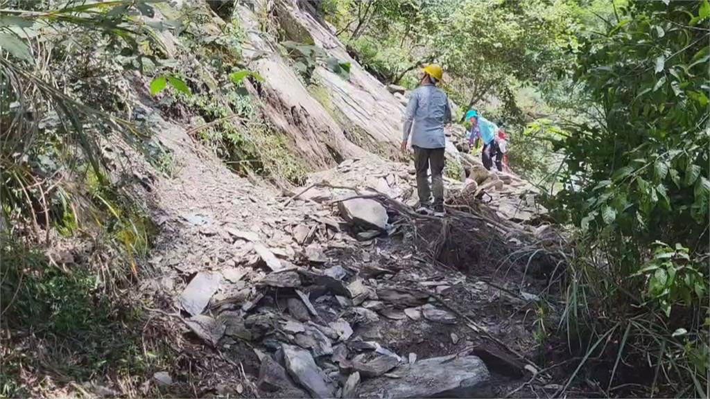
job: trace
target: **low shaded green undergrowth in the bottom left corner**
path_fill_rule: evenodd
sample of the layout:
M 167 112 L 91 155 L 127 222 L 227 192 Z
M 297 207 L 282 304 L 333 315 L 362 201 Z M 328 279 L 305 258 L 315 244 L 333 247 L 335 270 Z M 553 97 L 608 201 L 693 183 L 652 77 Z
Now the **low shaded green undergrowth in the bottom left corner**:
M 15 332 L 4 337 L 0 395 L 23 395 L 18 388 L 27 373 L 51 370 L 87 381 L 99 374 L 143 375 L 165 366 L 167 350 L 144 346 L 139 308 L 109 297 L 99 270 L 78 265 L 62 270 L 7 236 L 0 242 L 1 327 Z M 37 345 L 41 356 L 32 356 L 28 349 Z

